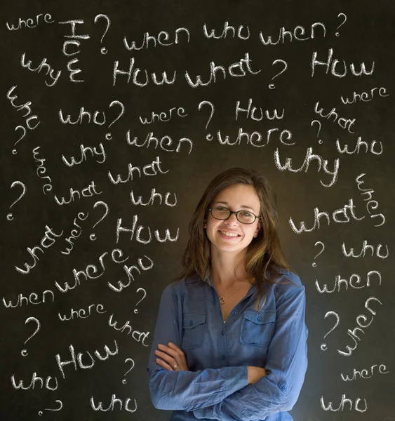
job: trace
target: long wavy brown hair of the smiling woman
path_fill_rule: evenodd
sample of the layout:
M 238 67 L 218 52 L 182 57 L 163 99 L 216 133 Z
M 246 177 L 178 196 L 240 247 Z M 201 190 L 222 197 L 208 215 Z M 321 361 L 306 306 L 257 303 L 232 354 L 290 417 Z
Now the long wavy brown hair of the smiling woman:
M 257 285 L 256 309 L 258 309 L 264 295 L 264 285 L 275 283 L 281 277 L 278 269 L 284 268 L 293 271 L 290 269 L 280 246 L 276 194 L 266 178 L 257 171 L 245 168 L 229 168 L 218 174 L 210 182 L 189 221 L 189 240 L 182 255 L 184 269 L 174 281 L 187 279 L 191 276 L 199 276 L 200 279 L 205 279 L 211 264 L 210 240 L 203 228 L 203 223 L 206 222 L 209 212 L 208 208 L 222 189 L 238 184 L 254 187 L 260 199 L 260 231 L 248 245 L 246 257 L 238 262 L 234 268 L 236 276 L 236 268 L 244 263 L 248 279 L 255 278 Z M 266 298 L 262 307 L 265 302 Z

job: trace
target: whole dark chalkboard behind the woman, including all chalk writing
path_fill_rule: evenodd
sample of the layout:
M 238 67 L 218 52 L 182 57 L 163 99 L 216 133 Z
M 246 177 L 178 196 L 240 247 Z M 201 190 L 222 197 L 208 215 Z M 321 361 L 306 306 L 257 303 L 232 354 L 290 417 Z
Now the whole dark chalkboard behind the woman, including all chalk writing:
M 8 2 L 1 420 L 167 420 L 146 366 L 208 182 L 262 172 L 307 294 L 295 421 L 395 420 L 393 1 Z

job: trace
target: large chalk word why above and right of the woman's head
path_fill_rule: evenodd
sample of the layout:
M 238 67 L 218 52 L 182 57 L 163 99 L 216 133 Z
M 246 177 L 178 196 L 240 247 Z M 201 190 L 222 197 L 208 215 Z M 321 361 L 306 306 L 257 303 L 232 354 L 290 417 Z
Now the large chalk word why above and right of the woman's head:
M 300 166 L 300 168 L 293 168 L 291 158 L 286 158 L 286 163 L 282 164 L 280 161 L 279 149 L 277 148 L 274 151 L 274 163 L 276 164 L 276 167 L 279 171 L 287 170 L 292 171 L 293 173 L 299 173 L 304 169 L 304 172 L 307 173 L 307 170 L 310 166 L 310 162 L 312 161 L 316 161 L 319 164 L 318 172 L 320 172 L 322 169 L 324 173 L 332 176 L 332 179 L 328 184 L 325 184 L 322 180 L 319 180 L 319 182 L 321 182 L 321 185 L 323 185 L 323 187 L 332 187 L 335 184 L 335 182 L 337 182 L 340 159 L 335 159 L 335 161 L 333 162 L 333 171 L 330 171 L 330 169 L 328 168 L 328 159 L 323 159 L 321 155 L 313 154 L 313 148 L 309 147 L 307 148 L 306 155 L 304 156 L 302 166 Z

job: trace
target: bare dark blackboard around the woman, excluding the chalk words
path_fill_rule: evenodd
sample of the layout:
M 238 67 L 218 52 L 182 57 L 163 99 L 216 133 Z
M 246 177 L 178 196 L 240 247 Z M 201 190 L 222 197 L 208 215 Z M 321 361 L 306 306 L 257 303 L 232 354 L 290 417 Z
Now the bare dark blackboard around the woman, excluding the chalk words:
M 6 308 L 1 305 L 1 419 L 4 420 L 126 420 L 133 417 L 138 420 L 166 420 L 170 413 L 156 410 L 149 399 L 146 366 L 149 347 L 136 342 L 132 335 L 119 332 L 108 324 L 110 314 L 119 321 L 120 326 L 130 321 L 133 329 L 149 331 L 145 341 L 150 345 L 156 322 L 156 312 L 163 288 L 180 272 L 180 258 L 187 242 L 187 223 L 197 201 L 207 183 L 220 171 L 232 166 L 255 168 L 264 173 L 278 196 L 280 215 L 280 234 L 283 250 L 291 267 L 300 275 L 307 293 L 307 326 L 309 327 L 309 368 L 304 387 L 292 415 L 296 421 L 317 420 L 395 420 L 394 406 L 394 286 L 391 263 L 392 244 L 394 240 L 394 166 L 395 152 L 394 133 L 394 12 L 391 1 L 107 1 L 94 2 L 69 1 L 59 2 L 36 1 L 34 3 L 9 3 L 4 7 L 1 19 L 1 86 L 3 105 L 1 108 L 1 175 L 2 182 L 2 220 L 1 225 L 1 295 L 6 301 L 16 300 L 18 294 L 41 295 L 44 290 L 53 290 L 54 302 L 40 305 L 23 305 Z M 22 28 L 9 31 L 8 24 L 17 23 L 18 18 L 34 18 L 39 13 L 51 13 L 54 23 L 42 22 L 33 29 Z M 99 13 L 111 19 L 111 26 L 102 42 L 100 38 L 105 30 L 105 21 L 94 23 Z M 339 29 L 342 18 L 339 13 L 347 15 L 347 21 Z M 69 81 L 67 62 L 69 58 L 62 54 L 62 44 L 70 34 L 69 25 L 58 22 L 82 19 L 83 25 L 77 25 L 78 34 L 88 34 L 90 39 L 81 40 L 80 53 L 74 57 L 79 59 L 74 67 L 81 68 L 77 75 L 84 79 L 83 83 Z M 250 28 L 250 39 L 243 41 L 228 36 L 226 39 L 206 39 L 202 27 L 206 23 L 209 28 L 221 30 L 225 21 L 229 25 L 244 25 Z M 286 41 L 277 46 L 264 46 L 260 43 L 260 31 L 267 36 L 278 36 L 279 28 L 293 29 L 302 25 L 309 33 L 314 22 L 326 25 L 326 36 L 320 29 L 316 37 L 308 41 Z M 145 32 L 158 34 L 164 30 L 172 36 L 175 29 L 187 27 L 190 33 L 189 43 L 180 36 L 180 44 L 163 47 L 156 46 L 141 51 L 127 51 L 123 46 L 123 36 L 138 44 Z M 340 36 L 335 36 L 337 30 Z M 100 48 L 106 46 L 107 55 L 100 54 Z M 326 74 L 323 67 L 316 68 L 314 77 L 310 67 L 312 54 L 317 51 L 319 59 L 328 56 L 329 48 L 333 48 L 333 58 L 342 62 L 365 62 L 367 68 L 375 61 L 375 72 L 371 76 L 352 76 L 337 78 Z M 249 53 L 253 70 L 261 69 L 260 74 L 247 74 L 245 77 L 224 80 L 217 74 L 216 83 L 192 89 L 185 81 L 184 72 L 201 74 L 203 80 L 209 75 L 209 63 L 229 66 L 244 58 Z M 20 58 L 26 53 L 27 60 L 32 60 L 37 67 L 43 58 L 55 69 L 61 70 L 60 79 L 53 87 L 48 87 L 45 72 L 30 72 L 22 68 Z M 73 58 L 74 58 L 73 57 Z M 118 76 L 116 84 L 112 83 L 114 61 L 119 60 L 119 68 L 128 69 L 130 58 L 135 58 L 135 67 L 146 68 L 148 72 L 166 71 L 173 74 L 177 71 L 177 79 L 173 85 L 148 86 L 140 88 L 127 83 L 126 76 Z M 275 67 L 276 59 L 286 60 L 286 72 L 272 78 L 281 67 Z M 275 83 L 276 88 L 268 88 Z M 19 132 L 14 129 L 22 124 L 22 112 L 18 112 L 6 99 L 6 93 L 12 86 L 18 95 L 16 103 L 32 101 L 32 114 L 41 121 L 34 131 L 27 131 L 24 139 L 18 142 Z M 374 96 L 370 102 L 356 102 L 343 105 L 340 95 L 351 97 L 356 91 L 369 92 L 372 88 L 384 87 L 389 96 Z M 235 121 L 235 105 L 247 105 L 253 98 L 253 105 L 262 109 L 281 110 L 285 108 L 282 120 L 260 122 L 241 117 Z M 64 125 L 58 118 L 59 109 L 75 118 L 80 107 L 94 112 L 105 111 L 107 121 L 115 118 L 118 109 L 109 109 L 109 104 L 118 100 L 125 106 L 125 114 L 111 128 L 108 124 L 98 126 L 93 123 Z M 199 102 L 208 100 L 215 105 L 215 114 L 208 124 L 208 107 L 199 112 Z M 314 104 L 320 102 L 327 112 L 336 107 L 340 116 L 356 119 L 355 134 L 348 133 L 336 123 L 321 119 L 321 133 L 317 137 L 317 126 L 311 122 L 317 119 Z M 152 111 L 161 112 L 171 107 L 183 107 L 187 116 L 174 117 L 168 122 L 155 122 L 142 125 L 138 117 L 148 117 Z M 281 145 L 274 138 L 265 147 L 253 147 L 242 141 L 241 145 L 220 145 L 217 140 L 208 142 L 207 133 L 220 130 L 236 140 L 239 128 L 252 133 L 259 131 L 266 138 L 269 128 L 288 129 L 293 133 L 295 145 Z M 144 140 L 149 131 L 156 137 L 170 135 L 175 142 L 180 138 L 193 141 L 193 149 L 188 154 L 188 147 L 181 147 L 180 152 L 164 152 L 160 148 L 138 148 L 128 145 L 126 132 Z M 112 133 L 112 140 L 106 140 L 105 134 Z M 357 136 L 363 140 L 382 142 L 384 153 L 376 156 L 365 153 L 339 154 L 335 147 L 337 138 L 342 145 L 348 143 L 353 149 Z M 323 140 L 319 144 L 319 138 Z M 97 163 L 91 156 L 72 168 L 62 162 L 62 155 L 79 157 L 79 148 L 95 146 L 102 143 L 107 159 L 105 163 Z M 36 174 L 37 163 L 34 161 L 32 149 L 39 146 L 39 156 L 45 158 L 45 167 L 52 180 L 53 189 L 46 195 L 42 187 L 45 183 Z M 293 159 L 295 167 L 302 165 L 308 147 L 328 159 L 329 167 L 340 158 L 339 178 L 333 187 L 323 187 L 319 180 L 328 182 L 328 175 L 317 172 L 318 165 L 312 162 L 308 171 L 291 173 L 278 171 L 274 164 L 274 151 L 279 148 L 281 160 L 288 156 Z M 12 154 L 13 149 L 18 154 Z M 124 184 L 113 185 L 109 182 L 107 172 L 113 175 L 127 175 L 128 163 L 133 166 L 144 166 L 159 156 L 161 168 L 168 171 L 152 177 L 133 178 Z M 386 223 L 382 227 L 374 227 L 378 219 L 369 217 L 366 201 L 363 201 L 356 187 L 355 178 L 366 173 L 363 187 L 374 189 L 373 199 L 379 202 L 378 212 L 383 213 Z M 11 183 L 20 180 L 26 186 L 26 194 L 10 209 L 11 203 L 19 194 L 18 187 L 10 188 Z M 66 196 L 70 187 L 83 189 L 94 180 L 102 194 L 76 200 L 58 206 L 53 194 Z M 142 196 L 148 201 L 152 188 L 157 192 L 175 193 L 177 206 L 170 208 L 156 203 L 154 206 L 133 206 L 129 194 L 133 190 L 135 196 Z M 353 199 L 356 214 L 365 218 L 361 221 L 351 220 L 346 224 L 331 222 L 328 226 L 322 223 L 320 229 L 300 235 L 290 229 L 288 219 L 295 222 L 306 221 L 308 227 L 314 222 L 314 208 L 333 212 L 342 208 L 349 199 Z M 102 208 L 93 208 L 96 201 L 105 201 L 109 206 L 109 215 L 92 229 L 102 215 Z M 8 213 L 13 213 L 12 221 L 6 220 Z M 89 213 L 81 222 L 82 234 L 75 241 L 70 255 L 62 255 L 65 250 L 65 237 L 69 236 L 77 213 Z M 159 229 L 169 229 L 175 236 L 179 229 L 178 241 L 159 243 L 154 240 L 142 245 L 128 234 L 121 233 L 116 243 L 116 222 L 122 219 L 122 225 L 131 227 L 133 215 L 138 215 L 138 223 L 150 227 L 152 233 Z M 20 274 L 15 266 L 22 267 L 29 255 L 27 247 L 39 245 L 44 235 L 45 226 L 50 226 L 56 233 L 62 232 L 51 248 L 39 255 L 39 261 L 29 274 Z M 89 235 L 95 232 L 97 239 L 91 241 Z M 147 234 L 145 229 L 142 236 Z M 341 244 L 361 250 L 363 241 L 377 246 L 386 244 L 390 255 L 380 258 L 345 258 Z M 321 248 L 314 246 L 316 241 L 325 244 L 325 250 L 316 258 L 316 267 L 312 267 L 314 257 Z M 154 267 L 141 275 L 121 293 L 115 293 L 107 286 L 107 282 L 116 285 L 118 280 L 126 281 L 122 265 L 116 265 L 105 257 L 105 273 L 96 280 L 81 281 L 74 290 L 60 293 L 55 281 L 63 285 L 66 281 L 73 283 L 72 270 L 85 269 L 87 265 L 100 266 L 98 258 L 102 253 L 119 248 L 125 256 L 129 256 L 128 264 L 137 264 L 138 258 L 149 256 Z M 373 281 L 370 288 L 354 290 L 342 289 L 332 294 L 319 294 L 314 286 L 316 279 L 321 285 L 333 286 L 335 276 L 343 278 L 351 274 L 359 274 L 365 282 L 366 273 L 379 270 L 382 284 Z M 138 288 L 145 288 L 147 296 L 136 307 L 142 298 Z M 345 349 L 354 342 L 347 335 L 347 329 L 356 327 L 356 316 L 366 314 L 364 303 L 374 296 L 382 302 L 382 306 L 371 306 L 377 311 L 373 323 L 364 329 L 361 342 L 352 356 L 342 356 L 336 349 Z M 91 304 L 102 304 L 105 314 L 93 313 L 87 319 L 74 319 L 61 322 L 61 314 L 73 309 L 87 309 Z M 134 309 L 138 308 L 135 314 Z M 323 336 L 334 326 L 333 318 L 324 319 L 326 312 L 333 311 L 340 316 L 340 326 L 330 333 L 326 340 Z M 41 323 L 33 338 L 24 343 L 34 331 L 34 323 L 27 323 L 28 317 L 35 317 Z M 114 349 L 114 340 L 119 346 L 116 356 L 107 361 L 97 361 L 91 370 L 74 370 L 65 367 L 65 379 L 62 378 L 55 361 L 55 355 L 69 359 L 69 345 L 76 352 L 102 351 L 105 345 Z M 322 342 L 328 344 L 328 350 L 322 352 Z M 28 355 L 20 352 L 27 349 Z M 131 358 L 135 366 L 128 374 Z M 370 369 L 374 364 L 384 363 L 388 374 L 375 374 L 370 379 L 344 382 L 340 373 L 352 375 L 352 370 Z M 40 389 L 15 390 L 11 385 L 11 376 L 15 380 L 24 380 L 29 384 L 32 373 L 46 378 L 57 377 L 59 387 L 55 392 Z M 126 379 L 126 384 L 122 380 Z M 138 410 L 130 414 L 126 410 L 94 412 L 91 408 L 91 396 L 95 402 L 102 401 L 107 408 L 112 394 L 125 401 L 130 398 L 138 403 Z M 347 398 L 366 399 L 368 410 L 359 413 L 349 410 L 324 411 L 320 406 L 323 396 L 325 403 L 333 402 L 333 407 L 340 406 L 342 394 Z M 60 411 L 55 400 L 62 401 Z M 130 407 L 133 407 L 130 404 Z M 363 408 L 363 401 L 360 402 Z M 43 416 L 38 415 L 43 411 Z

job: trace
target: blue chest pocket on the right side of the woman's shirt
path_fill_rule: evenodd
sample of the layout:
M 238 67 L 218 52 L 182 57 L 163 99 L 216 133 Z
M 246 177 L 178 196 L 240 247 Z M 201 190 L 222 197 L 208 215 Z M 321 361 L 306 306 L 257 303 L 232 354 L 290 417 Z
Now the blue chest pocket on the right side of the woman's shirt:
M 244 345 L 267 347 L 274 334 L 276 312 L 246 310 L 241 322 L 240 342 Z

